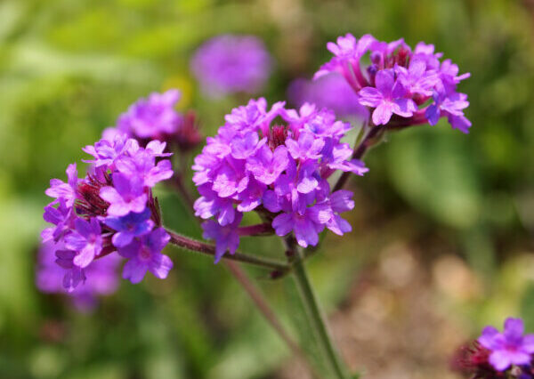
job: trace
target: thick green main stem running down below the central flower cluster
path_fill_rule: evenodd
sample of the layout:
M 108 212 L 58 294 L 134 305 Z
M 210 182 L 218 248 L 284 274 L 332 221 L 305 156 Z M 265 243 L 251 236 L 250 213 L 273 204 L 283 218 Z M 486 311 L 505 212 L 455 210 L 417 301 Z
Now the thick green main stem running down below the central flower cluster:
M 286 246 L 287 253 L 291 255 L 290 259 L 293 261 L 292 272 L 293 277 L 295 278 L 298 294 L 300 294 L 306 316 L 310 321 L 316 339 L 318 343 L 320 343 L 320 350 L 335 373 L 335 377 L 338 379 L 346 379 L 349 377 L 347 369 L 344 367 L 344 363 L 336 351 L 332 338 L 328 334 L 326 320 L 320 311 L 317 296 L 313 291 L 312 283 L 310 282 L 308 272 L 304 266 L 303 252 L 295 246 L 295 241 L 292 241 L 290 238 L 286 239 Z

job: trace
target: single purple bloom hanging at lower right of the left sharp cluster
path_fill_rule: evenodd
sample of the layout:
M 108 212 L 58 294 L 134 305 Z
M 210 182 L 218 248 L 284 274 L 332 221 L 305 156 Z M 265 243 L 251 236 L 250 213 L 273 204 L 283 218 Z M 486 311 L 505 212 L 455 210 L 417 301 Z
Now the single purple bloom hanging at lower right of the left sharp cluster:
M 119 248 L 118 254 L 128 259 L 123 269 L 123 278 L 137 284 L 142 281 L 147 271 L 150 271 L 156 278 L 165 279 L 173 268 L 173 262 L 168 256 L 161 254 L 161 250 L 169 240 L 170 236 L 166 231 L 158 228 Z

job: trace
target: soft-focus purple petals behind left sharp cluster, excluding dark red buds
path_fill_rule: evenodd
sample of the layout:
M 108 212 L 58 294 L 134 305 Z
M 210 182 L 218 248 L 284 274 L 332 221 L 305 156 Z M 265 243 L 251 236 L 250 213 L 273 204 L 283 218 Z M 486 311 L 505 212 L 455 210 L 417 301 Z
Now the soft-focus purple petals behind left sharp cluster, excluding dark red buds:
M 118 117 L 118 131 L 139 139 L 154 140 L 176 133 L 182 124 L 182 115 L 174 110 L 180 96 L 178 90 L 150 93 L 147 99 L 136 101 Z

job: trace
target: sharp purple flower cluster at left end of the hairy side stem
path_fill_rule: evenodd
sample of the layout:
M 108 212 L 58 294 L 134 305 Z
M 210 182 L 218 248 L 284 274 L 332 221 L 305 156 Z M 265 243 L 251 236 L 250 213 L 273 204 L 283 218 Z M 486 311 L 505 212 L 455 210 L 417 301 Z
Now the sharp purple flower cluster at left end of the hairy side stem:
M 164 157 L 165 142 L 139 142 L 117 134 L 84 151 L 93 159 L 85 178 L 77 177 L 76 164 L 67 168 L 68 181 L 50 181 L 46 195 L 54 198 L 44 207 L 44 243 L 54 243 L 56 262 L 64 269 L 63 286 L 70 291 L 84 282 L 88 268 L 115 251 L 128 261 L 123 278 L 142 280 L 147 270 L 166 278 L 173 263 L 161 250 L 169 235 L 161 228 L 158 206 L 151 189 L 173 175 Z

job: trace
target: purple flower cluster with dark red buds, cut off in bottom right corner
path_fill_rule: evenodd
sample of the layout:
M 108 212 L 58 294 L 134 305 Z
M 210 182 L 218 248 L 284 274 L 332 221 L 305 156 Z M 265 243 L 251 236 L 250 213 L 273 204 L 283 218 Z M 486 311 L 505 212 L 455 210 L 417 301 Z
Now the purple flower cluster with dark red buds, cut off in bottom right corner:
M 484 327 L 473 347 L 460 359 L 475 378 L 534 378 L 534 335 L 524 335 L 522 319 L 508 318 L 503 333 Z

